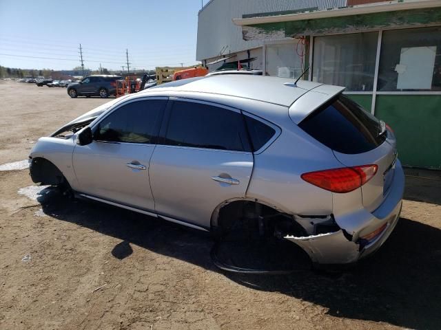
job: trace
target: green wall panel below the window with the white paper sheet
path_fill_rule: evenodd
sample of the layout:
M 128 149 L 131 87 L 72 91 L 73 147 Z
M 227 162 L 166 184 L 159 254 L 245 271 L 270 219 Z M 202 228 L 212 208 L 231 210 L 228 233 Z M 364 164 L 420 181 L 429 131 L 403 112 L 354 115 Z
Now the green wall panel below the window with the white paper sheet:
M 441 96 L 377 95 L 375 111 L 395 132 L 402 164 L 441 169 Z

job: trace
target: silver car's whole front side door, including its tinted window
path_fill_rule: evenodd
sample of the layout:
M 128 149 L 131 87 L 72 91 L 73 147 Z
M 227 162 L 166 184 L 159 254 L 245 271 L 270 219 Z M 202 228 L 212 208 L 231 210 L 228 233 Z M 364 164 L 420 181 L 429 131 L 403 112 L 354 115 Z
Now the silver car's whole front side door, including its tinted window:
M 81 192 L 126 206 L 154 210 L 149 162 L 166 98 L 124 102 L 94 124 L 94 141 L 74 148 Z

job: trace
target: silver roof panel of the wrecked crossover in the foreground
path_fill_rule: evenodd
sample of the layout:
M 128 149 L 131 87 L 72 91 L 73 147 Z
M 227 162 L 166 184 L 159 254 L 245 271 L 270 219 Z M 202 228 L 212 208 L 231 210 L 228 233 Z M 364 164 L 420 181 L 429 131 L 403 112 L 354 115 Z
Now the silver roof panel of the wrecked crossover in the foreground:
M 293 79 L 252 74 L 220 74 L 183 79 L 178 82 L 179 84 L 172 82 L 158 85 L 142 91 L 141 94 L 155 91 L 198 92 L 248 98 L 290 107 L 300 96 L 317 87 L 322 86 L 320 93 L 332 95 L 344 89 L 344 87 L 323 85 L 307 80 L 299 80 L 294 87 Z

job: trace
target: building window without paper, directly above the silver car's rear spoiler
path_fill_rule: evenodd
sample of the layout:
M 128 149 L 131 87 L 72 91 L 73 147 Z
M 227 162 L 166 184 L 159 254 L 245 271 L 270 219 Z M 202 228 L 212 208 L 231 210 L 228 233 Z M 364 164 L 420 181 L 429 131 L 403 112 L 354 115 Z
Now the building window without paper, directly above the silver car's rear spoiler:
M 312 80 L 372 91 L 377 41 L 378 32 L 315 37 Z

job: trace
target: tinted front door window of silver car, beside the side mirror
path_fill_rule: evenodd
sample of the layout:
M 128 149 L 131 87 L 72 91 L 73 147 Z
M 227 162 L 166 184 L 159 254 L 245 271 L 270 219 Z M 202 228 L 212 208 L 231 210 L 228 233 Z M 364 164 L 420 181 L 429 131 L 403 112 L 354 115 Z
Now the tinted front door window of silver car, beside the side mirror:
M 166 100 L 130 102 L 107 115 L 94 131 L 105 142 L 156 143 Z

